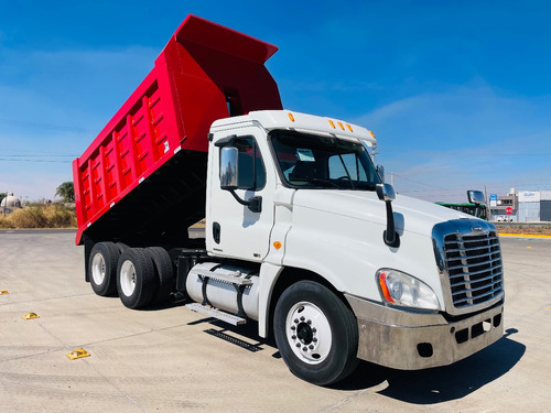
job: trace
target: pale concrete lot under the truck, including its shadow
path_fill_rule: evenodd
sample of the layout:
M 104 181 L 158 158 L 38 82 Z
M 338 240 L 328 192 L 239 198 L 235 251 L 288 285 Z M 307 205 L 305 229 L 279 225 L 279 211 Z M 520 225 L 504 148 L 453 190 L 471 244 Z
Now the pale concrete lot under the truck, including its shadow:
M 331 389 L 294 378 L 255 326 L 96 296 L 73 239 L 0 231 L 1 413 L 551 410 L 549 239 L 501 239 L 507 335 L 494 346 L 425 371 L 364 363 Z M 91 356 L 69 360 L 79 347 Z

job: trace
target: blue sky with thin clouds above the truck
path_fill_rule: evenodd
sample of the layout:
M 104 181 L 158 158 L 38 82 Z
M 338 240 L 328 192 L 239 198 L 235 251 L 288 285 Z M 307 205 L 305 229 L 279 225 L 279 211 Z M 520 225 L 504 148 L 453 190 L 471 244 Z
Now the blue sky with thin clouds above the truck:
M 190 13 L 277 45 L 283 107 L 372 130 L 400 194 L 551 191 L 550 1 L 0 0 L 0 193 L 54 199 Z

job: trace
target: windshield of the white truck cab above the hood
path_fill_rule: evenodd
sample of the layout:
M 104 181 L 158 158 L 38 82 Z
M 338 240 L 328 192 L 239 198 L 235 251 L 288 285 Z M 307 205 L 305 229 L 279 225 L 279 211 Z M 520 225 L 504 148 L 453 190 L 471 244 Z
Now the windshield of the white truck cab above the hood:
M 272 131 L 270 141 L 291 187 L 374 191 L 380 183 L 359 142 L 291 131 Z

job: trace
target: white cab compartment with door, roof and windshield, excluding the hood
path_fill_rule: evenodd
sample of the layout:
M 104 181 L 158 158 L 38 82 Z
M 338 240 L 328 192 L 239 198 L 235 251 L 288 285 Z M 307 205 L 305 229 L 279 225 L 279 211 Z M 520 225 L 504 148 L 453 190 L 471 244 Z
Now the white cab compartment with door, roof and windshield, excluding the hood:
M 337 131 L 337 122 L 282 110 L 213 124 L 206 214 L 209 253 L 281 263 L 293 224 L 285 211 L 292 211 L 292 198 L 300 189 L 375 194 L 381 181 L 364 146 L 375 139 L 365 128 L 355 126 L 354 131 L 349 123 L 350 130 Z M 224 156 L 230 149 L 235 150 L 231 161 Z M 224 186 L 228 173 L 235 182 Z M 256 202 L 258 207 L 244 202 Z

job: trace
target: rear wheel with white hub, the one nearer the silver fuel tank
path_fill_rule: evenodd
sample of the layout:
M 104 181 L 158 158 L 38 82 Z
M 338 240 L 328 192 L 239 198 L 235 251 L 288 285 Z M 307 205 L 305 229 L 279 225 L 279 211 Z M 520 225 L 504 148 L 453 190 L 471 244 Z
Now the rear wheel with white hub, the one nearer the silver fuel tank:
M 141 248 L 127 248 L 119 258 L 117 290 L 122 304 L 128 308 L 148 305 L 155 291 L 153 261 Z

